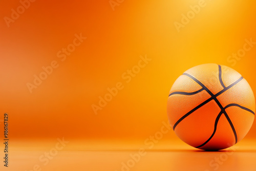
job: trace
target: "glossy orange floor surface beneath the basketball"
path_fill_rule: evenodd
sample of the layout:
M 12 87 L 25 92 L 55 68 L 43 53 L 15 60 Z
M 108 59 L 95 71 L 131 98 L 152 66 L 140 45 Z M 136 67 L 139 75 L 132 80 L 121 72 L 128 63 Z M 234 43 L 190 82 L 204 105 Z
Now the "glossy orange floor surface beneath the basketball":
M 243 140 L 219 152 L 197 150 L 164 141 L 152 149 L 138 142 L 70 141 L 59 151 L 56 142 L 13 142 L 9 167 L 1 170 L 256 170 L 255 140 Z M 3 152 L 2 152 L 3 153 Z M 46 160 L 45 154 L 54 154 Z M 2 156 L 2 155 L 1 155 Z

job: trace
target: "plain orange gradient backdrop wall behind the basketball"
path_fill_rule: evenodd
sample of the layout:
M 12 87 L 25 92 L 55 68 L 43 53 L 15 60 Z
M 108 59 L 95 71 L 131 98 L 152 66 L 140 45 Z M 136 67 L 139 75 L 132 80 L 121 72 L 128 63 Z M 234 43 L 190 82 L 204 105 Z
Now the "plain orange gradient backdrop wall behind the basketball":
M 202 63 L 235 69 L 255 93 L 256 46 L 235 66 L 227 58 L 245 39 L 256 41 L 256 1 L 205 1 L 178 32 L 174 22 L 198 2 L 129 0 L 113 10 L 108 0 L 37 0 L 7 27 L 4 17 L 20 2 L 1 1 L 0 109 L 10 116 L 10 139 L 33 143 L 65 137 L 85 145 L 138 140 L 143 145 L 167 121 L 174 81 Z M 80 33 L 87 39 L 62 62 L 57 52 Z M 141 55 L 152 60 L 126 83 L 122 74 Z M 30 93 L 26 84 L 53 60 L 59 67 Z M 95 115 L 92 104 L 117 82 L 124 88 Z M 255 133 L 254 123 L 245 139 Z M 164 140 L 184 144 L 173 131 Z

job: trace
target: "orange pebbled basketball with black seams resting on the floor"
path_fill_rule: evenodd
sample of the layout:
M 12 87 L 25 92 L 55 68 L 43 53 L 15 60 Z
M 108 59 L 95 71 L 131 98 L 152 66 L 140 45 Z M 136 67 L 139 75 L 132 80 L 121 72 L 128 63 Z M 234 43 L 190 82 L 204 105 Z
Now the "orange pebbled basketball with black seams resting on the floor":
M 255 99 L 248 82 L 233 69 L 213 63 L 184 72 L 170 89 L 167 115 L 187 144 L 215 151 L 230 147 L 250 130 Z

